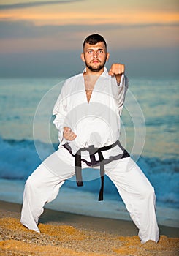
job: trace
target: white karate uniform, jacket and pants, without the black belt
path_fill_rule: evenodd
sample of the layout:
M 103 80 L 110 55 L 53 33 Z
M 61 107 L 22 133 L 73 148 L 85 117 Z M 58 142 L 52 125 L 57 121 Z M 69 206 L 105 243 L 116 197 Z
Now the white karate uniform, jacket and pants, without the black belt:
M 66 179 L 75 175 L 73 155 L 79 148 L 91 145 L 101 148 L 118 140 L 120 115 L 127 87 L 128 80 L 124 75 L 118 86 L 115 77 L 108 75 L 105 69 L 96 81 L 88 102 L 83 73 L 66 80 L 53 109 L 60 146 L 26 181 L 20 222 L 28 229 L 39 232 L 37 224 L 45 204 L 54 200 Z M 68 141 L 71 154 L 63 146 L 67 142 L 63 138 L 64 127 L 70 127 L 77 135 L 75 140 Z M 115 184 L 132 220 L 139 228 L 142 243 L 148 240 L 157 242 L 159 228 L 156 222 L 154 189 L 130 157 L 111 160 L 122 153 L 123 150 L 118 146 L 102 152 L 104 159 L 109 159 L 109 163 L 105 165 L 105 174 Z M 82 152 L 82 159 L 90 162 L 88 151 Z M 82 161 L 82 167 L 88 166 Z

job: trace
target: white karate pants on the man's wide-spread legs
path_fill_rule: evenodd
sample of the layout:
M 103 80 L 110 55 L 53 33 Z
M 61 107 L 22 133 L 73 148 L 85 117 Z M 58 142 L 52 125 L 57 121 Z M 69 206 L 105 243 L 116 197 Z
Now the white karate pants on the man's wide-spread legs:
M 83 163 L 82 167 L 88 166 Z M 157 242 L 159 228 L 155 212 L 156 197 L 153 187 L 140 167 L 127 157 L 105 165 L 105 174 L 118 189 L 132 220 L 139 229 L 141 242 Z M 47 157 L 26 181 L 20 222 L 28 229 L 39 232 L 37 225 L 45 204 L 54 200 L 66 179 L 74 175 L 75 159 L 64 147 Z

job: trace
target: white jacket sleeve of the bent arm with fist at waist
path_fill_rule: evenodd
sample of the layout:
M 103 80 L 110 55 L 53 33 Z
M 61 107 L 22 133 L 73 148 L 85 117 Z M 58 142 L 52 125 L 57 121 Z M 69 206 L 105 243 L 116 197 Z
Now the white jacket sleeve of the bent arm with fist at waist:
M 56 104 L 53 108 L 53 115 L 55 115 L 55 119 L 53 124 L 55 124 L 56 129 L 58 129 L 58 140 L 61 144 L 66 143 L 64 138 L 64 121 L 67 115 L 67 95 L 65 86 L 61 89 L 61 93 L 56 101 Z

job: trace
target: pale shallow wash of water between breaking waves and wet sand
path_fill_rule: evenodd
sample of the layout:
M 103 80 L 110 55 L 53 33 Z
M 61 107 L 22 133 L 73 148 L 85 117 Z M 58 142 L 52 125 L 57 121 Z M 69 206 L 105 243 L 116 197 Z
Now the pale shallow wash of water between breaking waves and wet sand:
M 0 179 L 0 200 L 21 204 L 24 184 L 25 181 Z M 104 201 L 99 202 L 96 200 L 96 194 L 85 191 L 84 197 L 83 190 L 63 186 L 56 200 L 47 203 L 45 208 L 88 217 L 131 221 L 123 201 L 114 200 L 108 195 L 104 197 Z M 178 216 L 178 208 L 160 206 L 156 202 L 156 217 L 159 225 L 179 228 Z

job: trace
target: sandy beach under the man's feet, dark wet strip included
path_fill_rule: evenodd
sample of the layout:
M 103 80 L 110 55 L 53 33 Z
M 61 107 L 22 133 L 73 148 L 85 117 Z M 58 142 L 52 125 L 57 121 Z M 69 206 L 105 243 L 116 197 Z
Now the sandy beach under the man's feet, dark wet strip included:
M 140 243 L 133 222 L 45 209 L 41 233 L 20 224 L 20 204 L 0 201 L 0 255 L 179 255 L 179 230 L 159 226 L 159 243 Z

